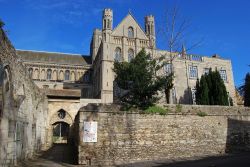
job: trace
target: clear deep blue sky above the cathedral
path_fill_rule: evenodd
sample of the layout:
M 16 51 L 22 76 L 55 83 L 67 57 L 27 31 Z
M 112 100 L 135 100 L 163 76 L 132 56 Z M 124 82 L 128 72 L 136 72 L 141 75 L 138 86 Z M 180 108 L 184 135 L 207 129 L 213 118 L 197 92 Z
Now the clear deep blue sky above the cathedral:
M 114 27 L 129 11 L 141 27 L 146 15 L 154 15 L 157 48 L 167 49 L 160 32 L 174 6 L 190 22 L 186 47 L 202 41 L 188 53 L 230 59 L 235 85 L 242 85 L 250 72 L 249 0 L 0 0 L 0 19 L 16 49 L 89 55 L 104 8 L 113 9 Z

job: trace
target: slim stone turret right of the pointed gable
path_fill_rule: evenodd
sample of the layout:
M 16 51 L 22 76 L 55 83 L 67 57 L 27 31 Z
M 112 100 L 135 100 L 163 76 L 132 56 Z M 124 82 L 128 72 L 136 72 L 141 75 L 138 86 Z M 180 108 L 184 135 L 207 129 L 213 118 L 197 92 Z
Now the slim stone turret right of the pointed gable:
M 155 48 L 155 18 L 153 15 L 145 17 L 145 31 L 150 40 L 150 46 Z

